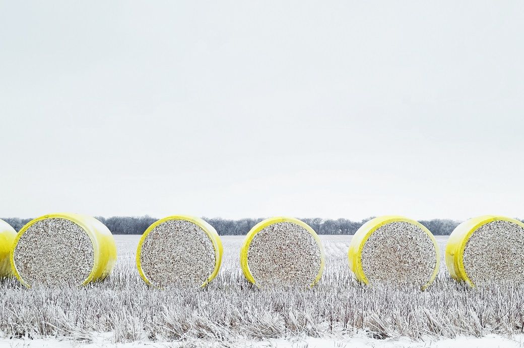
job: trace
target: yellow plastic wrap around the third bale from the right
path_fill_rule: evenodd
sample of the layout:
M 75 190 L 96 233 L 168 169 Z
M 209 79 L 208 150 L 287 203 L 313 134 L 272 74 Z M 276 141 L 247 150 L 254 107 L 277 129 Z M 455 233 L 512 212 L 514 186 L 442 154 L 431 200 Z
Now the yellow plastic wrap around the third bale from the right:
M 319 236 L 316 234 L 315 230 L 311 228 L 308 224 L 304 223 L 303 221 L 293 218 L 293 217 L 270 217 L 268 219 L 265 219 L 255 226 L 253 226 L 252 229 L 249 230 L 249 232 L 246 235 L 246 238 L 244 239 L 244 242 L 242 244 L 242 248 L 240 250 L 240 266 L 242 268 L 242 272 L 244 273 L 244 277 L 246 279 L 255 284 L 257 287 L 261 288 L 261 286 L 256 282 L 255 278 L 253 277 L 251 271 L 249 270 L 249 264 L 247 262 L 247 251 L 249 250 L 249 246 L 251 245 L 251 242 L 253 241 L 253 238 L 255 238 L 255 235 L 259 233 L 261 230 L 266 228 L 269 225 L 277 224 L 277 223 L 292 223 L 299 225 L 303 227 L 305 230 L 307 230 L 315 239 L 316 244 L 319 246 L 320 249 L 320 269 L 318 275 L 316 275 L 315 280 L 310 284 L 310 287 L 313 287 L 316 283 L 320 281 L 320 278 L 322 277 L 322 272 L 324 271 L 324 263 L 325 263 L 325 252 L 324 252 L 324 246 L 322 245 L 322 242 L 319 238 Z

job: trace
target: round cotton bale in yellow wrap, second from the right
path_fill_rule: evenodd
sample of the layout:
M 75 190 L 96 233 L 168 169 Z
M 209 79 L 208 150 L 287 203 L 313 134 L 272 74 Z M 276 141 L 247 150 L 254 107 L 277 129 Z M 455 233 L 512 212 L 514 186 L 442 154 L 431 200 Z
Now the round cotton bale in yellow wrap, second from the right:
M 366 284 L 427 288 L 439 271 L 440 252 L 431 232 L 402 216 L 381 216 L 362 225 L 348 250 L 350 268 Z

